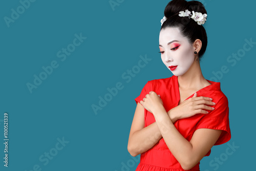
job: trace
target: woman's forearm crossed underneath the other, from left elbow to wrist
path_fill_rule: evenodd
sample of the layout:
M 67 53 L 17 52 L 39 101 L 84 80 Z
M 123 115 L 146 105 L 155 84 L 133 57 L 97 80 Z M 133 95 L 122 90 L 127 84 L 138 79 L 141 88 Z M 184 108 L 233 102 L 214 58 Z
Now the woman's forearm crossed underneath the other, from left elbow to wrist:
M 170 114 L 170 113 L 169 113 Z M 173 123 L 177 120 L 174 115 L 168 115 Z M 152 148 L 162 138 L 161 132 L 156 122 L 136 131 L 129 140 L 129 152 L 132 156 L 137 156 Z M 132 144 L 132 145 L 131 145 Z

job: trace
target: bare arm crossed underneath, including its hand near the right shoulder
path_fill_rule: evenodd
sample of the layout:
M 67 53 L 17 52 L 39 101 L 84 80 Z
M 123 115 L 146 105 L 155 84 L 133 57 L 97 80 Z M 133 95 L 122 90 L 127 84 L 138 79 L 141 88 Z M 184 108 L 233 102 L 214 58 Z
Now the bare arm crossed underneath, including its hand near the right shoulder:
M 210 106 L 202 105 L 212 105 L 212 101 L 208 97 L 197 97 L 197 93 L 195 93 L 193 98 L 198 100 L 197 103 L 191 103 L 191 100 L 188 99 L 167 112 L 172 123 L 178 119 L 187 118 L 198 113 L 206 114 L 205 110 L 213 110 Z M 160 101 L 160 103 L 163 104 L 162 101 Z M 153 105 L 150 106 L 152 107 Z M 191 107 L 195 109 L 189 110 Z M 161 138 L 162 134 L 156 122 L 144 128 L 144 107 L 142 104 L 137 103 L 127 146 L 129 153 L 132 156 L 144 153 L 148 149 L 152 148 Z

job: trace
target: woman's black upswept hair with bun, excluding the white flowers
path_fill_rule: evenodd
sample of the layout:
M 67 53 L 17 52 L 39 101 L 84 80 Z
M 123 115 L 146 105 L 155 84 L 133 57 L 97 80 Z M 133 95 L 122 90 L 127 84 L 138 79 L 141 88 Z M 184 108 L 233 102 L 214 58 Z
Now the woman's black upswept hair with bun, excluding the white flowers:
M 179 28 L 181 35 L 186 37 L 190 44 L 193 44 L 196 39 L 202 41 L 202 47 L 198 53 L 199 60 L 203 56 L 207 47 L 207 34 L 202 25 L 198 25 L 194 19 L 187 17 L 180 17 L 179 12 L 188 10 L 191 12 L 201 12 L 207 14 L 204 5 L 198 1 L 185 1 L 185 0 L 173 0 L 170 1 L 164 9 L 164 16 L 167 18 L 163 23 L 161 30 L 171 27 Z M 160 31 L 161 31 L 160 30 Z

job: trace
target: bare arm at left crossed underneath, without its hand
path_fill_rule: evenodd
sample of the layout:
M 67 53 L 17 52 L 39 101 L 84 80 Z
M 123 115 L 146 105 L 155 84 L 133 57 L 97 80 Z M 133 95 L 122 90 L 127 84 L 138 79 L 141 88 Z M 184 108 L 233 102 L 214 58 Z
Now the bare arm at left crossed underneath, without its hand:
M 169 116 L 172 123 L 178 119 L 174 114 Z M 127 145 L 129 153 L 134 157 L 152 148 L 162 138 L 156 122 L 146 127 L 144 124 L 144 107 L 137 103 Z

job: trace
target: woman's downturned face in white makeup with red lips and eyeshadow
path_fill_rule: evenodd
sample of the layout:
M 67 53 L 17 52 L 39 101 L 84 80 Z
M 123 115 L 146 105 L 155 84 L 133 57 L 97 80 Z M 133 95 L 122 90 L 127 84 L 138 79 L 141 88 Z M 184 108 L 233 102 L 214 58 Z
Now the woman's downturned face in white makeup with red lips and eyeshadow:
M 164 65 L 176 76 L 185 74 L 194 62 L 193 46 L 182 37 L 178 28 L 162 29 L 159 35 L 159 49 Z M 169 68 L 177 66 L 176 68 Z

